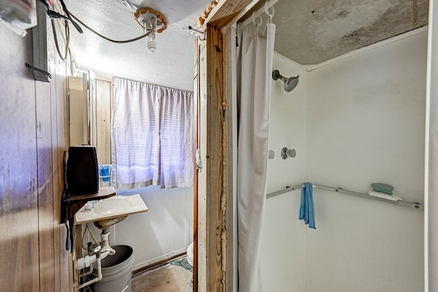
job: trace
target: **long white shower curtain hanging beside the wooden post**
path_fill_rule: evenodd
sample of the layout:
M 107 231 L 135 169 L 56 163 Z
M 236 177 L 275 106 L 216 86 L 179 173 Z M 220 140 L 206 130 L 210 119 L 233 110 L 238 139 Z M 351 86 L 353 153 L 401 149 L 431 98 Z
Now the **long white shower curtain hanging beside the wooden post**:
M 238 77 L 237 216 L 239 291 L 263 291 L 261 228 L 266 202 L 268 134 L 275 25 L 242 34 Z M 240 72 L 239 72 L 240 70 Z

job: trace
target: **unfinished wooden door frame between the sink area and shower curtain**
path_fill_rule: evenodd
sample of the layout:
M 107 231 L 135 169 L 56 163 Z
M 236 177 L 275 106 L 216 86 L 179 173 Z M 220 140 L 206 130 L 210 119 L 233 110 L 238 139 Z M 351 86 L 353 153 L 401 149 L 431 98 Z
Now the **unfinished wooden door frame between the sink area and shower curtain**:
M 259 1 L 223 0 L 205 19 L 205 39 L 199 41 L 197 92 L 200 107 L 199 139 L 203 169 L 196 174 L 194 190 L 194 291 L 233 291 L 233 70 L 225 43 L 227 29 Z M 257 5 L 258 6 L 258 5 Z M 228 75 L 227 75 L 228 74 Z M 234 146 L 235 147 L 235 146 Z M 235 185 L 235 183 L 234 183 Z M 197 280 L 196 280 L 197 279 Z

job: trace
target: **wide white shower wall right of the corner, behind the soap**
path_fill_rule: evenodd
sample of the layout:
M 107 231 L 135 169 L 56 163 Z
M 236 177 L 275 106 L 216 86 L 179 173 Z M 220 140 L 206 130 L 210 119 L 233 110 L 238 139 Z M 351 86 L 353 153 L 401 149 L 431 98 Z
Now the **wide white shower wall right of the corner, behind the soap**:
M 365 193 L 388 183 L 424 203 L 427 30 L 420 31 L 309 72 L 307 179 Z M 307 291 L 423 290 L 423 211 L 321 190 L 314 198 Z

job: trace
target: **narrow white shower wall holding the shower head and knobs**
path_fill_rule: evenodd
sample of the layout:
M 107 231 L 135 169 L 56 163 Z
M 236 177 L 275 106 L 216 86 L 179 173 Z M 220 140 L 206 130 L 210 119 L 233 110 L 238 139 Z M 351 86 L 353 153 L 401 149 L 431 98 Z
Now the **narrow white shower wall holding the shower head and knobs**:
M 283 82 L 272 83 L 268 160 L 268 193 L 305 181 L 306 169 L 306 71 L 275 53 L 274 68 L 281 75 L 300 75 L 298 86 L 285 92 Z M 294 148 L 295 158 L 282 159 L 283 147 Z M 266 201 L 261 266 L 263 291 L 304 291 L 305 226 L 298 220 L 299 191 Z

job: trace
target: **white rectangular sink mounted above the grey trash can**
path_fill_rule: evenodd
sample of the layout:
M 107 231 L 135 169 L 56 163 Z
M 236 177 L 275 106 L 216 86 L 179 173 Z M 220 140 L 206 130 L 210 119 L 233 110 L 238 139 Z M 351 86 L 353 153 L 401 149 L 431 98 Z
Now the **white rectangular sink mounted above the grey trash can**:
M 90 211 L 84 211 L 84 207 L 75 214 L 75 225 L 94 222 L 98 228 L 108 228 L 125 220 L 128 215 L 148 211 L 140 194 L 99 200 Z

